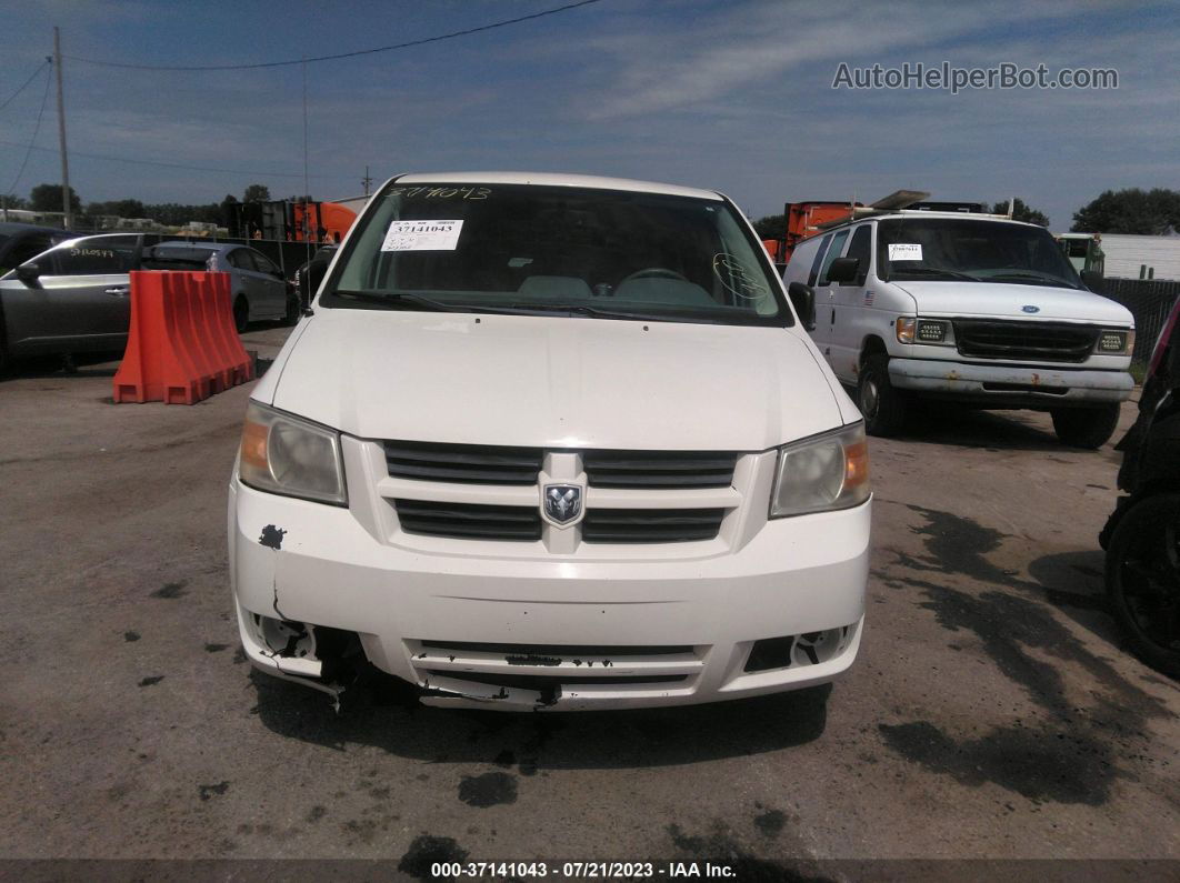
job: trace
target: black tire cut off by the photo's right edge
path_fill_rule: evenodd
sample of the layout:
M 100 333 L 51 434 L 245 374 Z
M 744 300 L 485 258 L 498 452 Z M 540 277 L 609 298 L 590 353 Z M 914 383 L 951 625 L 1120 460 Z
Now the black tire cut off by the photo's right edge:
M 1180 678 L 1180 494 L 1148 496 L 1122 516 L 1107 551 L 1106 587 L 1135 655 Z

